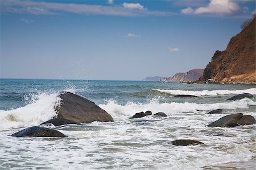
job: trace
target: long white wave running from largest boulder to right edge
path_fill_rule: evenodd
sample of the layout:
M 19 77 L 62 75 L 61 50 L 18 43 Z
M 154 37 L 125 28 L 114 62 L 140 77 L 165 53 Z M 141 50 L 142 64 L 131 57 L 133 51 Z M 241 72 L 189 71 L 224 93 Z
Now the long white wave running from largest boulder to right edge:
M 157 99 L 152 99 L 148 103 L 128 102 L 126 105 L 121 105 L 113 99 L 106 104 L 99 105 L 112 116 L 132 116 L 140 111 L 152 111 L 152 114 L 164 112 L 167 115 L 179 113 L 200 113 L 200 111 L 209 111 L 214 109 L 246 109 L 250 105 L 256 106 L 256 102 L 249 98 L 241 99 L 240 101 L 221 102 L 221 103 L 159 103 Z M 200 110 L 200 111 L 199 111 Z

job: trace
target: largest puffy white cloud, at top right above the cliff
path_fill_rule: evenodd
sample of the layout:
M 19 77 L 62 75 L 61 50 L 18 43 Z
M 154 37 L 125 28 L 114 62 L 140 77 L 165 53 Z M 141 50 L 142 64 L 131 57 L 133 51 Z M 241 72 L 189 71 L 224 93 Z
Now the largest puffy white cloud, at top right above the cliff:
M 183 14 L 231 14 L 240 7 L 232 0 L 210 0 L 206 7 L 199 7 L 193 10 L 191 7 L 181 10 Z

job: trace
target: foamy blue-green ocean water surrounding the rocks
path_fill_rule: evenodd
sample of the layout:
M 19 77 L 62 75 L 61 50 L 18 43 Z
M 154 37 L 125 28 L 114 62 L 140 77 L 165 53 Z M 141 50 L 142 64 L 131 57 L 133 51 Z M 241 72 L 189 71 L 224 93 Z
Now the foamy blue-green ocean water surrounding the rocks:
M 0 89 L 0 169 L 243 169 L 245 162 L 245 169 L 255 168 L 256 125 L 207 127 L 232 113 L 256 118 L 255 85 L 0 79 Z M 50 126 L 68 138 L 10 136 L 55 117 L 61 91 L 90 99 L 114 122 Z M 241 93 L 254 98 L 226 101 Z M 224 113 L 207 114 L 213 109 Z M 168 117 L 129 119 L 147 110 Z M 176 139 L 205 145 L 170 144 Z

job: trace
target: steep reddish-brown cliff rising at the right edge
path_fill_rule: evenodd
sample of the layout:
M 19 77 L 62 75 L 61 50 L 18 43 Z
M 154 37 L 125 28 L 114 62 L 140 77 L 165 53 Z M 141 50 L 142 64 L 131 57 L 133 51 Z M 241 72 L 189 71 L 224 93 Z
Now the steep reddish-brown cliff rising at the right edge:
M 230 39 L 225 51 L 214 53 L 199 82 L 255 84 L 255 37 L 254 17 L 248 26 Z

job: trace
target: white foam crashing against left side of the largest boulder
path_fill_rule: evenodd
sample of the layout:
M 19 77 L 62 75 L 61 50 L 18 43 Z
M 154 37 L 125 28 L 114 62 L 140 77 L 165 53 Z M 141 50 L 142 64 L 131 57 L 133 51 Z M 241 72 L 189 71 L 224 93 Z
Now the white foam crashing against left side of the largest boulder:
M 38 125 L 56 116 L 54 106 L 60 102 L 58 93 L 32 94 L 31 102 L 23 107 L 0 110 L 0 128 L 20 128 Z

